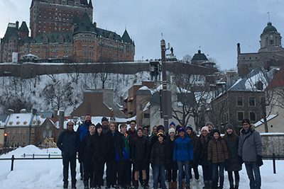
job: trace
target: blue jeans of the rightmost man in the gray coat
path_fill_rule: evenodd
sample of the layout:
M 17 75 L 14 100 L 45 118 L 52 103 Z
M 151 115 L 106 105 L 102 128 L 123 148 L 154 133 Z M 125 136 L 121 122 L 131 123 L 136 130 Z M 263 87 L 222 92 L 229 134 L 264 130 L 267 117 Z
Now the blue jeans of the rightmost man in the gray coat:
M 249 176 L 249 186 L 251 189 L 261 188 L 261 171 L 255 161 L 244 162 L 246 166 L 246 173 Z M 253 176 L 254 173 L 254 176 Z

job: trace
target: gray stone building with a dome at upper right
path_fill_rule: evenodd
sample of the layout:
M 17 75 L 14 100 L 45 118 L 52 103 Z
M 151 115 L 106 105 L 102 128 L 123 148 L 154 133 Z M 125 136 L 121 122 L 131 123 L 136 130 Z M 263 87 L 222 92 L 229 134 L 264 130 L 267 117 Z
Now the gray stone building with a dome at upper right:
M 263 67 L 267 70 L 284 65 L 284 49 L 281 45 L 281 35 L 268 22 L 261 33 L 258 52 L 241 53 L 241 45 L 237 44 L 239 76 L 246 76 L 252 69 Z

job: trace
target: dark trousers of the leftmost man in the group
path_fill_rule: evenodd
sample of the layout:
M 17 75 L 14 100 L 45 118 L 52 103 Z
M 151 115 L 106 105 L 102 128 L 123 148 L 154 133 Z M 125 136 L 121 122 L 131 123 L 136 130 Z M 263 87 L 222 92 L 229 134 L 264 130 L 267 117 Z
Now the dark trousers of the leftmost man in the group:
M 70 164 L 71 182 L 72 184 L 76 184 L 76 155 L 62 156 L 62 163 L 63 163 L 63 182 L 68 183 L 68 171 Z

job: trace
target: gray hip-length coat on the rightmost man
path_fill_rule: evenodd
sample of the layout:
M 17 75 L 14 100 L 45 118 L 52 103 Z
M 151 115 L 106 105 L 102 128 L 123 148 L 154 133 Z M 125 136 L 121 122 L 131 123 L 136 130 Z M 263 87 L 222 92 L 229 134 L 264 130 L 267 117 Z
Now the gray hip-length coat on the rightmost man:
M 247 137 L 247 139 L 246 139 Z M 261 134 L 249 127 L 249 132 L 241 130 L 239 136 L 239 156 L 243 161 L 256 161 L 257 156 L 262 156 Z

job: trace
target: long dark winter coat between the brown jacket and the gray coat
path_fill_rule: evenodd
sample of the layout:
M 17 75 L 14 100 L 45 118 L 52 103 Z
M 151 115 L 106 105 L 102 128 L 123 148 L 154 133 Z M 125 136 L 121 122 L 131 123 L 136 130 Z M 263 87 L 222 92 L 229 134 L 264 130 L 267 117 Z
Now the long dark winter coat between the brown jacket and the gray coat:
M 236 134 L 226 134 L 224 140 L 229 152 L 229 164 L 227 164 L 225 167 L 226 171 L 241 171 L 238 156 L 239 136 Z

